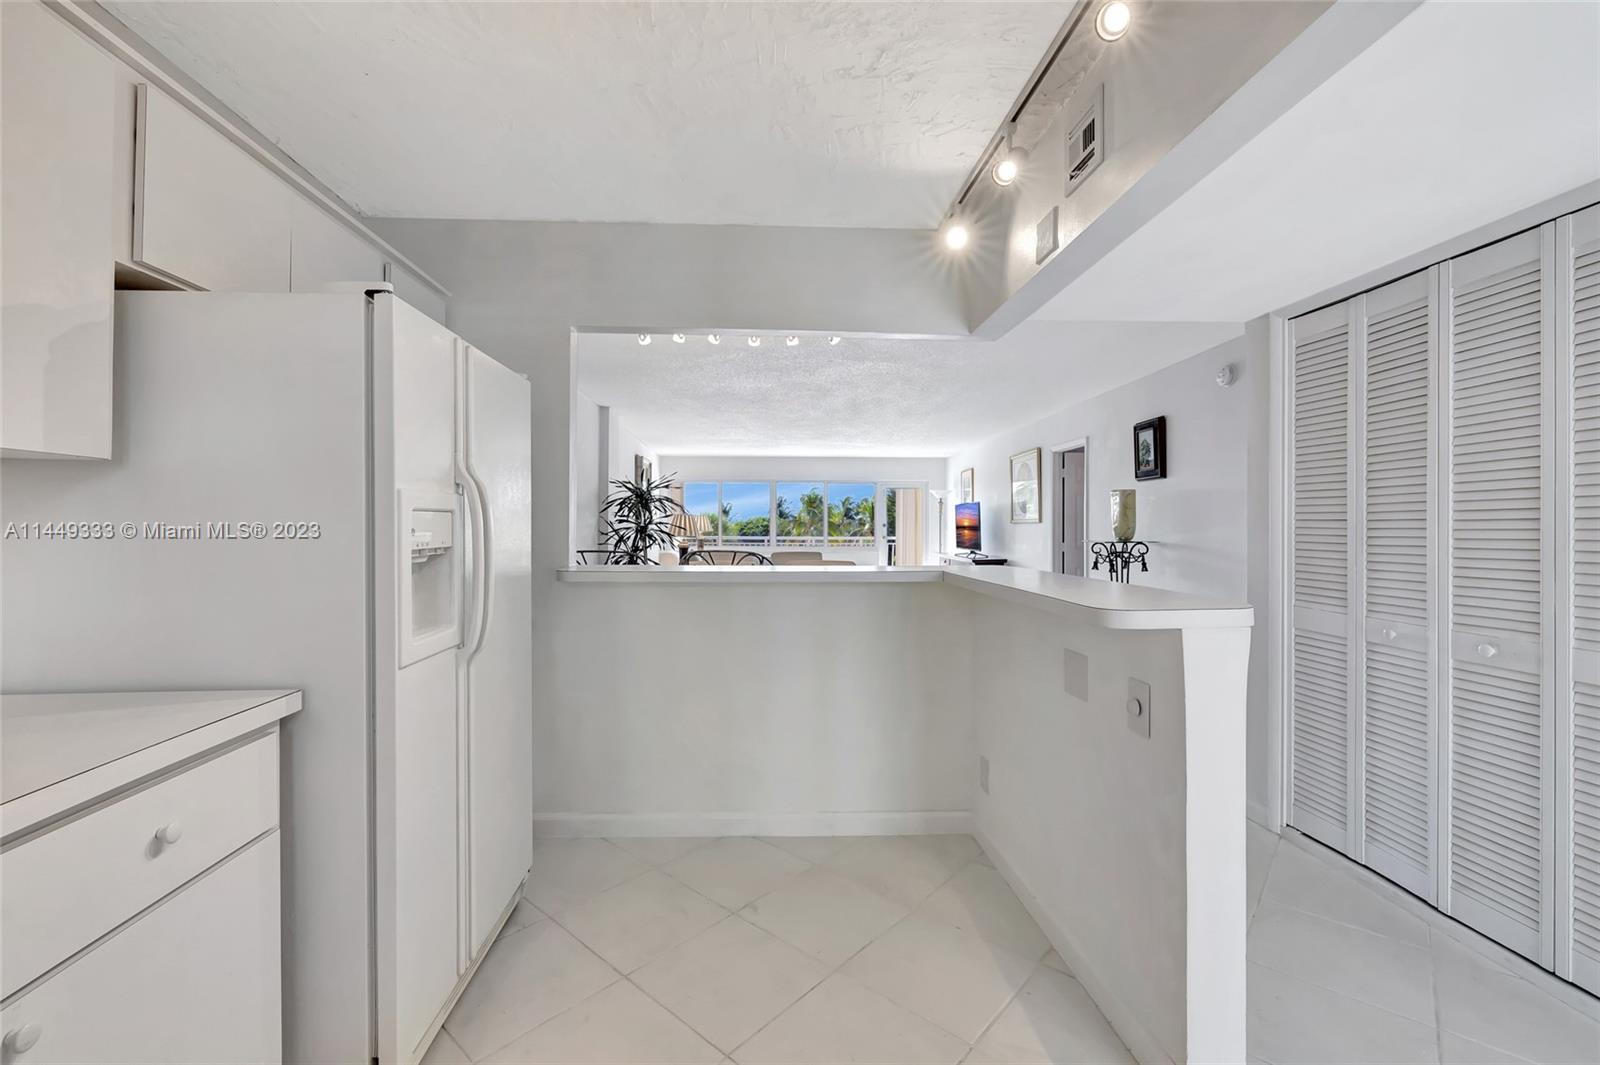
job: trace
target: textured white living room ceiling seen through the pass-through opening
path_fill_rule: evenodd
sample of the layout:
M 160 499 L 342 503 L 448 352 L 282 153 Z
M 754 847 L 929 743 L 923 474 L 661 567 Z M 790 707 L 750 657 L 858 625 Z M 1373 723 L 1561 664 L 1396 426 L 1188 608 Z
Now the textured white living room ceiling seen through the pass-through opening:
M 1027 321 L 998 341 L 786 347 L 578 337 L 578 390 L 670 454 L 946 456 L 1238 336 L 1237 325 Z

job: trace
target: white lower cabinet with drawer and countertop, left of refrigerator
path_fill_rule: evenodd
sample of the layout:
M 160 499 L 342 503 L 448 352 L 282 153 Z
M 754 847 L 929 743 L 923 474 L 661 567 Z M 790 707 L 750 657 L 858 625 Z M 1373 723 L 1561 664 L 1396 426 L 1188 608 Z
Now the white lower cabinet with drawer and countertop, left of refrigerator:
M 283 1060 L 298 691 L 3 694 L 0 1063 Z

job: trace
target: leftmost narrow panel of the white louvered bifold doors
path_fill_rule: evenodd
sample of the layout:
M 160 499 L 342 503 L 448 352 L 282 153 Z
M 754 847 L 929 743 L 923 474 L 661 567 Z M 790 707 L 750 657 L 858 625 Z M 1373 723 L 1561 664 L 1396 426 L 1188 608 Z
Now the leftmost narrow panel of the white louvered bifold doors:
M 1350 304 L 1291 323 L 1290 824 L 1352 849 Z

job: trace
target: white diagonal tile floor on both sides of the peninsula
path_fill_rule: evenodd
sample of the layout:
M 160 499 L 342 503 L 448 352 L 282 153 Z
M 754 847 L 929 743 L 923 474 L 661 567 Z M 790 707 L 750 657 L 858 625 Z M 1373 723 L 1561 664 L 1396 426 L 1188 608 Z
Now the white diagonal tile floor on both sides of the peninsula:
M 1254 1062 L 1600 1062 L 1600 1003 L 1250 827 Z M 968 836 L 550 840 L 426 1062 L 1131 1062 Z

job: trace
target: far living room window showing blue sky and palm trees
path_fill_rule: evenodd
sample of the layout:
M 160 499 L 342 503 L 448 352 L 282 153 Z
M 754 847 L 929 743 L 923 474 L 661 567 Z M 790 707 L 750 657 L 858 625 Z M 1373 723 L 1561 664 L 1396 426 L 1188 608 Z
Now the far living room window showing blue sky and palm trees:
M 704 515 L 712 547 L 874 547 L 874 481 L 686 481 L 683 509 Z

